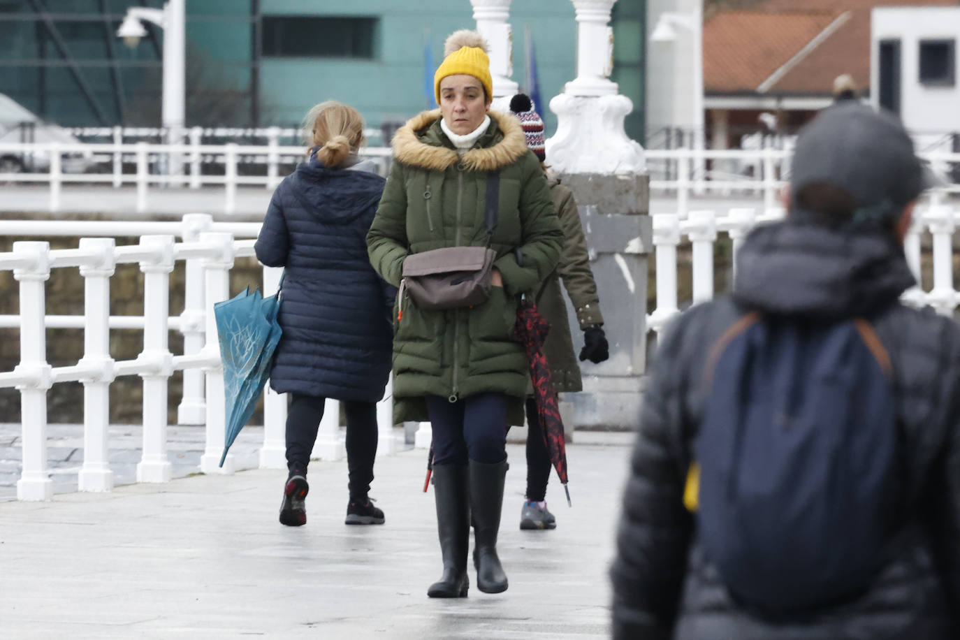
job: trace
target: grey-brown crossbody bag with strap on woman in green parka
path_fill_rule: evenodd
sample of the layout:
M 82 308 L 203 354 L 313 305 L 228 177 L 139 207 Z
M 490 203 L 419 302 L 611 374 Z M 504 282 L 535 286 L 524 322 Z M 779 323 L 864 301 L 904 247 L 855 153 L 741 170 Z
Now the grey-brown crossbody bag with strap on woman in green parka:
M 420 309 L 461 309 L 490 298 L 496 251 L 490 248 L 500 200 L 500 175 L 487 176 L 484 222 L 486 247 L 446 247 L 408 255 L 403 260 L 398 299 L 409 294 Z

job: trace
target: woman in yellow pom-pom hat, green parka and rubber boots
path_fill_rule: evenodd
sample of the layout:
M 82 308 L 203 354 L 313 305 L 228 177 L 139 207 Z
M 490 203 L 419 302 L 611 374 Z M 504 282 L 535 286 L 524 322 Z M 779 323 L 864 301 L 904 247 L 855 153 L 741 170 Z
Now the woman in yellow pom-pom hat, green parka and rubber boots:
M 400 296 L 394 316 L 395 422 L 430 420 L 444 574 L 430 597 L 465 597 L 470 514 L 477 587 L 507 588 L 496 555 L 507 470 L 504 424 L 522 424 L 527 362 L 514 339 L 516 298 L 534 291 L 563 244 L 540 161 L 512 115 L 490 111 L 482 38 L 456 32 L 434 79 L 440 109 L 396 132 L 394 164 L 367 235 L 373 268 L 400 284 L 404 259 L 486 246 L 488 180 L 499 181 L 492 293 L 471 308 L 429 311 Z M 399 313 L 402 308 L 402 314 Z

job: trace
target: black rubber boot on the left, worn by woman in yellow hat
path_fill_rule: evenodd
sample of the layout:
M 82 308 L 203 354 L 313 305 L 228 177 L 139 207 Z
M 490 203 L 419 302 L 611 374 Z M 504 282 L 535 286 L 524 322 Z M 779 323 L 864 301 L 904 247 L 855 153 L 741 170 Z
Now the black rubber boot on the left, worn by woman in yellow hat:
M 427 589 L 431 598 L 466 598 L 469 586 L 467 549 L 470 533 L 470 501 L 467 467 L 436 464 L 433 492 L 437 500 L 437 533 L 444 557 L 444 575 Z

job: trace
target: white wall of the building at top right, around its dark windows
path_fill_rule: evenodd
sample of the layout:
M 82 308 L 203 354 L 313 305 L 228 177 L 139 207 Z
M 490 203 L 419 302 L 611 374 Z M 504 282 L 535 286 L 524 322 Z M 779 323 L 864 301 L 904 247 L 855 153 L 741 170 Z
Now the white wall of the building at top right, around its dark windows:
M 873 11 L 871 100 L 879 106 L 880 40 L 900 39 L 900 117 L 924 149 L 949 131 L 960 131 L 960 60 L 952 86 L 920 83 L 920 41 L 953 39 L 960 55 L 960 7 L 883 7 Z

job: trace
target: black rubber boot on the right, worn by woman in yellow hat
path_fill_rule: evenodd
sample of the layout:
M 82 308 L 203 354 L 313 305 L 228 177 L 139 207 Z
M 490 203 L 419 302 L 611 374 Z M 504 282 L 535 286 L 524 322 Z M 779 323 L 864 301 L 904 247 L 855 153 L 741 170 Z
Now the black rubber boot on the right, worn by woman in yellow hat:
M 507 575 L 503 573 L 500 558 L 496 555 L 496 534 L 500 530 L 507 462 L 484 464 L 471 460 L 469 470 L 470 510 L 476 541 L 477 588 L 484 593 L 500 593 L 507 590 Z

